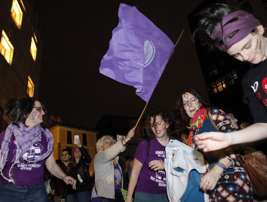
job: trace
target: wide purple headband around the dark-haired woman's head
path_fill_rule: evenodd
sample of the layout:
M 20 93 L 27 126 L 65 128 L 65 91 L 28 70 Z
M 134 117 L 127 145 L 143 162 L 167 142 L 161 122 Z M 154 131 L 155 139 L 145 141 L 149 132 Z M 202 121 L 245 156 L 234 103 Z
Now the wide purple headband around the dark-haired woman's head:
M 240 16 L 240 18 L 237 21 L 225 25 L 227 22 L 229 22 L 230 20 L 234 19 L 237 16 Z M 219 46 L 220 51 L 226 52 L 229 48 L 231 48 L 232 45 L 241 41 L 249 33 L 251 33 L 251 31 L 258 25 L 261 25 L 260 21 L 256 19 L 252 14 L 249 14 L 248 12 L 243 10 L 238 10 L 232 12 L 231 14 L 223 18 L 222 20 L 223 36 L 222 36 L 222 27 L 219 24 L 215 29 L 212 39 L 220 41 L 223 38 L 227 37 L 229 34 L 233 33 L 234 31 L 239 30 L 231 39 L 229 39 L 227 42 Z

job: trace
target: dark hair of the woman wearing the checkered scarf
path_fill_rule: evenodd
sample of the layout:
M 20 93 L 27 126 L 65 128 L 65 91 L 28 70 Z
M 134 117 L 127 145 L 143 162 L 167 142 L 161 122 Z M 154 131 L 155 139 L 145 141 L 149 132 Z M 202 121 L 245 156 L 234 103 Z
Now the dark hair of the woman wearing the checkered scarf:
M 43 115 L 43 122 L 40 125 L 42 126 L 42 128 L 47 128 L 51 123 L 52 116 L 46 111 L 46 108 L 42 104 L 42 101 L 39 98 L 35 97 L 12 98 L 11 100 L 9 100 L 5 111 L 5 116 L 7 117 L 8 122 L 16 125 L 17 127 L 19 127 L 19 122 L 22 122 L 25 125 L 27 117 L 33 110 L 35 101 L 39 101 L 41 103 L 43 111 L 45 113 L 45 115 Z

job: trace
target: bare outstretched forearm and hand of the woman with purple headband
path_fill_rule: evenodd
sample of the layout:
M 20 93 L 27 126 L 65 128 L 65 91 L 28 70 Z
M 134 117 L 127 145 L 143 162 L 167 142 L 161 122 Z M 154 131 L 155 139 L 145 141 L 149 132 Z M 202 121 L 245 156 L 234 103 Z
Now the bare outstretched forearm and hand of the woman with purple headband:
M 230 145 L 254 142 L 267 138 L 267 123 L 256 123 L 234 132 L 204 132 L 195 136 L 199 149 L 210 152 Z

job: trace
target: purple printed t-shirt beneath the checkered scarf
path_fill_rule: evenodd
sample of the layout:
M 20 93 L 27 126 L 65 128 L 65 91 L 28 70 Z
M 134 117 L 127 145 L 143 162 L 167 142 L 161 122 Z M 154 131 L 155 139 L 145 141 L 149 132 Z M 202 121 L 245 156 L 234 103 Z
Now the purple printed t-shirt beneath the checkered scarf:
M 0 134 L 0 149 L 1 144 L 4 139 L 5 132 Z M 45 134 L 42 132 L 42 136 L 39 141 L 33 144 L 33 146 L 23 155 L 24 158 L 28 160 L 34 160 L 34 158 L 39 157 L 42 154 L 47 152 L 48 142 Z M 12 162 L 16 156 L 16 141 L 15 136 L 12 134 L 10 138 L 10 146 L 7 154 L 7 162 L 2 171 L 3 175 L 9 179 L 9 170 L 12 166 Z M 35 185 L 35 184 L 43 184 L 44 183 L 44 164 L 46 163 L 46 159 L 37 162 L 37 163 L 29 163 L 24 161 L 23 158 L 20 159 L 20 162 L 15 164 L 11 170 L 12 179 L 16 185 Z M 8 181 L 5 180 L 0 175 L 0 182 L 3 184 L 7 184 Z

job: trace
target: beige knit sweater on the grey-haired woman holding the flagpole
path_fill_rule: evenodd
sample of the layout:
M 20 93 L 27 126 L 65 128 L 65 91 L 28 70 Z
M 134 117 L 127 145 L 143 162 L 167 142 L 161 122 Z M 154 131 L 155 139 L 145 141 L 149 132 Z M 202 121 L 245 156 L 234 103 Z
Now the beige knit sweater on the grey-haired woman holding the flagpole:
M 115 158 L 118 163 L 118 154 L 123 152 L 125 148 L 126 147 L 123 146 L 122 141 L 119 140 L 105 151 L 99 151 L 95 155 L 95 188 L 99 197 L 115 199 L 113 159 Z M 120 165 L 119 168 L 121 170 Z M 121 182 L 123 187 L 123 179 Z M 97 197 L 95 188 L 93 187 L 91 198 Z

